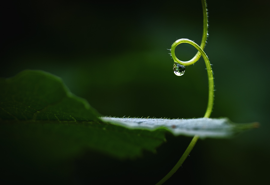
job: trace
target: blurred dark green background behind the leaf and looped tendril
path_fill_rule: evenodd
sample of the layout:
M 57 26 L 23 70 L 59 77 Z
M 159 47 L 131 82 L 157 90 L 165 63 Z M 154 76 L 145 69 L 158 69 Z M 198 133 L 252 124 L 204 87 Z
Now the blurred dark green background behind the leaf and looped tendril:
M 199 140 L 183 168 L 164 184 L 268 184 L 270 3 L 208 0 L 207 4 L 209 37 L 204 51 L 213 64 L 216 89 L 211 117 L 259 122 L 260 128 L 232 139 Z M 27 0 L 5 1 L 1 9 L 0 77 L 25 69 L 50 72 L 104 116 L 204 115 L 208 81 L 203 59 L 187 66 L 179 77 L 167 50 L 180 38 L 201 43 L 201 1 Z M 188 44 L 176 48 L 180 60 L 195 54 Z M 155 184 L 176 164 L 191 138 L 168 134 L 167 140 L 156 154 L 145 153 L 137 160 L 86 152 L 72 162 L 74 184 L 89 184 L 89 173 L 94 172 L 97 181 L 118 181 L 120 176 L 127 184 L 134 179 Z M 103 164 L 89 156 L 100 157 L 107 168 L 99 169 Z

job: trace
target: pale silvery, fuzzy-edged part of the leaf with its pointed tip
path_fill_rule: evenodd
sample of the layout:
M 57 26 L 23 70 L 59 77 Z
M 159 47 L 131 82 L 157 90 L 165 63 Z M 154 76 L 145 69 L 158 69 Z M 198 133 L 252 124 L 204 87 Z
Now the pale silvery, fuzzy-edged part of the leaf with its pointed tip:
M 201 139 L 206 137 L 231 137 L 239 132 L 250 128 L 256 128 L 258 126 L 258 123 L 235 124 L 228 118 L 140 119 L 101 117 L 100 119 L 104 122 L 120 125 L 129 129 L 142 129 L 149 131 L 166 129 L 175 136 L 199 135 Z

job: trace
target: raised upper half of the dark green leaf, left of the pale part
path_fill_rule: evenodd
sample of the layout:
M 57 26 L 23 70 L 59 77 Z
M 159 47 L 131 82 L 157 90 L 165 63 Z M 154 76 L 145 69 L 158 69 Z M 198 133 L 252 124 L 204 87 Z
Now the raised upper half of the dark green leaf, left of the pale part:
M 100 114 L 67 89 L 61 78 L 26 70 L 0 79 L 0 119 L 97 121 Z

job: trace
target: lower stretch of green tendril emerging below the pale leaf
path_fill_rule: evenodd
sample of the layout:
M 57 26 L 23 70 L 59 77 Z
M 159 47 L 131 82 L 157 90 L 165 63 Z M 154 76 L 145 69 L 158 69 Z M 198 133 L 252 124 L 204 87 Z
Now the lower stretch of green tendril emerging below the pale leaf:
M 173 167 L 173 169 L 163 178 L 161 181 L 159 181 L 156 185 L 161 185 L 165 181 L 167 181 L 178 169 L 179 167 L 183 164 L 185 159 L 187 158 L 188 154 L 196 144 L 197 140 L 199 139 L 199 136 L 194 136 L 193 139 L 191 140 L 190 144 L 188 145 L 186 151 L 182 155 L 182 157 L 179 159 L 179 161 L 176 163 L 176 165 Z

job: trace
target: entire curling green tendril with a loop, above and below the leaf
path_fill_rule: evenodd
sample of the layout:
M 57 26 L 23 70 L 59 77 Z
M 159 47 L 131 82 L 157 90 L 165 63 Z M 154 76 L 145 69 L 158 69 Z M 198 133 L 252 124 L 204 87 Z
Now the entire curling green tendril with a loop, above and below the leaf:
M 213 78 L 213 72 L 212 72 L 212 68 L 211 68 L 211 64 L 209 62 L 209 59 L 206 56 L 205 52 L 203 51 L 203 49 L 205 47 L 206 39 L 208 36 L 208 33 L 207 33 L 207 27 L 208 27 L 207 9 L 206 9 L 205 0 L 202 0 L 202 12 L 203 12 L 203 33 L 202 33 L 201 46 L 198 46 L 196 43 L 194 43 L 193 41 L 191 41 L 189 39 L 179 39 L 173 43 L 172 48 L 171 48 L 171 55 L 173 57 L 174 62 L 177 62 L 177 63 L 184 65 L 184 66 L 189 66 L 189 65 L 195 63 L 197 60 L 199 60 L 199 58 L 201 56 L 203 57 L 203 59 L 205 61 L 206 69 L 207 69 L 207 75 L 208 75 L 208 104 L 207 104 L 207 108 L 206 108 L 204 117 L 209 118 L 211 115 L 212 109 L 213 109 L 213 104 L 214 104 L 214 78 Z M 196 55 L 191 60 L 181 61 L 175 56 L 175 48 L 176 48 L 176 46 L 178 46 L 181 43 L 191 44 L 192 46 L 194 46 L 198 50 Z M 173 169 L 163 179 L 161 179 L 161 181 L 159 181 L 156 185 L 163 184 L 179 169 L 179 167 L 182 165 L 184 160 L 187 158 L 190 151 L 193 149 L 193 147 L 196 144 L 198 139 L 199 139 L 199 136 L 197 136 L 197 135 L 195 135 L 193 137 L 193 139 L 191 140 L 190 144 L 188 145 L 186 151 L 184 152 L 184 154 L 182 155 L 180 160 L 176 163 L 176 165 L 173 167 Z

